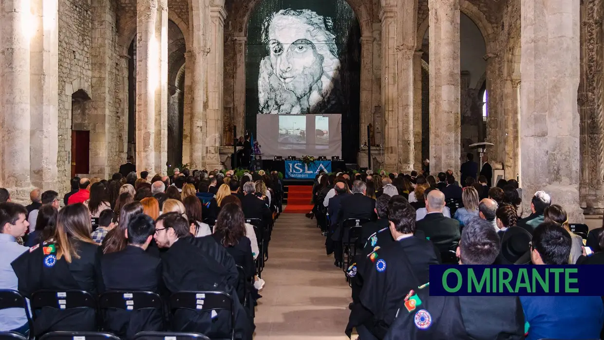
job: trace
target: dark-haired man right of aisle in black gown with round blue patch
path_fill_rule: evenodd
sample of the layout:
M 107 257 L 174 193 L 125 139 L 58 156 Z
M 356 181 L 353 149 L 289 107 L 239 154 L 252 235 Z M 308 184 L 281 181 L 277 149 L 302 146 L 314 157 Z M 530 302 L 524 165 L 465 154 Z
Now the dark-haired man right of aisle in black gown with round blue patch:
M 390 199 L 388 221 L 396 242 L 371 253 L 373 263 L 365 270 L 361 303 L 350 312 L 347 335 L 356 327 L 361 339 L 384 338 L 409 287 L 428 282 L 429 265 L 438 261 L 431 242 L 413 235 L 415 220 L 415 211 L 405 198 Z

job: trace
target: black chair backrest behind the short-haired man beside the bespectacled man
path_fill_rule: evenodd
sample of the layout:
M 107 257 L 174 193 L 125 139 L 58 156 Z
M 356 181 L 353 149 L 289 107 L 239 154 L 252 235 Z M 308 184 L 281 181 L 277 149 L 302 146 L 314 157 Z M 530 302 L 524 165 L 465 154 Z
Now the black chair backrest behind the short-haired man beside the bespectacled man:
M 98 298 L 99 309 L 159 309 L 163 303 L 161 297 L 153 292 L 135 292 L 123 290 L 109 290 Z

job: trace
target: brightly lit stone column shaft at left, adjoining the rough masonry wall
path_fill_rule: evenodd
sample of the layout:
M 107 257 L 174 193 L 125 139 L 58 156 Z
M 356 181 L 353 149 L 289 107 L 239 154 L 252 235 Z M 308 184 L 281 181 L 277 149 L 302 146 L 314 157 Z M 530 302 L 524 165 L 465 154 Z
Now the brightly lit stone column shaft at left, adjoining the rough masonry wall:
M 30 111 L 31 184 L 57 190 L 59 151 L 59 4 L 57 0 L 32 0 Z M 10 90 L 9 90 L 10 91 Z

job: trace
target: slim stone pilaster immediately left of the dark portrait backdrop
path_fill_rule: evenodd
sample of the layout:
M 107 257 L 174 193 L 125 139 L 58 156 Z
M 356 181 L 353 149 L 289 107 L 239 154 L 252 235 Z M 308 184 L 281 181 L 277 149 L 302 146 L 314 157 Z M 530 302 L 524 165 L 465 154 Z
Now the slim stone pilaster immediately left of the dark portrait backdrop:
M 239 138 L 245 135 L 245 51 L 248 38 L 236 36 L 233 41 L 235 44 L 233 124 L 237 126 L 237 136 L 234 138 Z

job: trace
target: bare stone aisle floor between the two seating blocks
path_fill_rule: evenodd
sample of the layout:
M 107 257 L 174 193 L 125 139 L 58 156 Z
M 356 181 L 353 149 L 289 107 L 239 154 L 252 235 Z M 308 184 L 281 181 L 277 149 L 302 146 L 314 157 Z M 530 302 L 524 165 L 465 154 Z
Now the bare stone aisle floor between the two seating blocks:
M 262 272 L 255 340 L 344 340 L 350 288 L 315 220 L 281 214 Z M 353 336 L 353 339 L 356 338 Z

